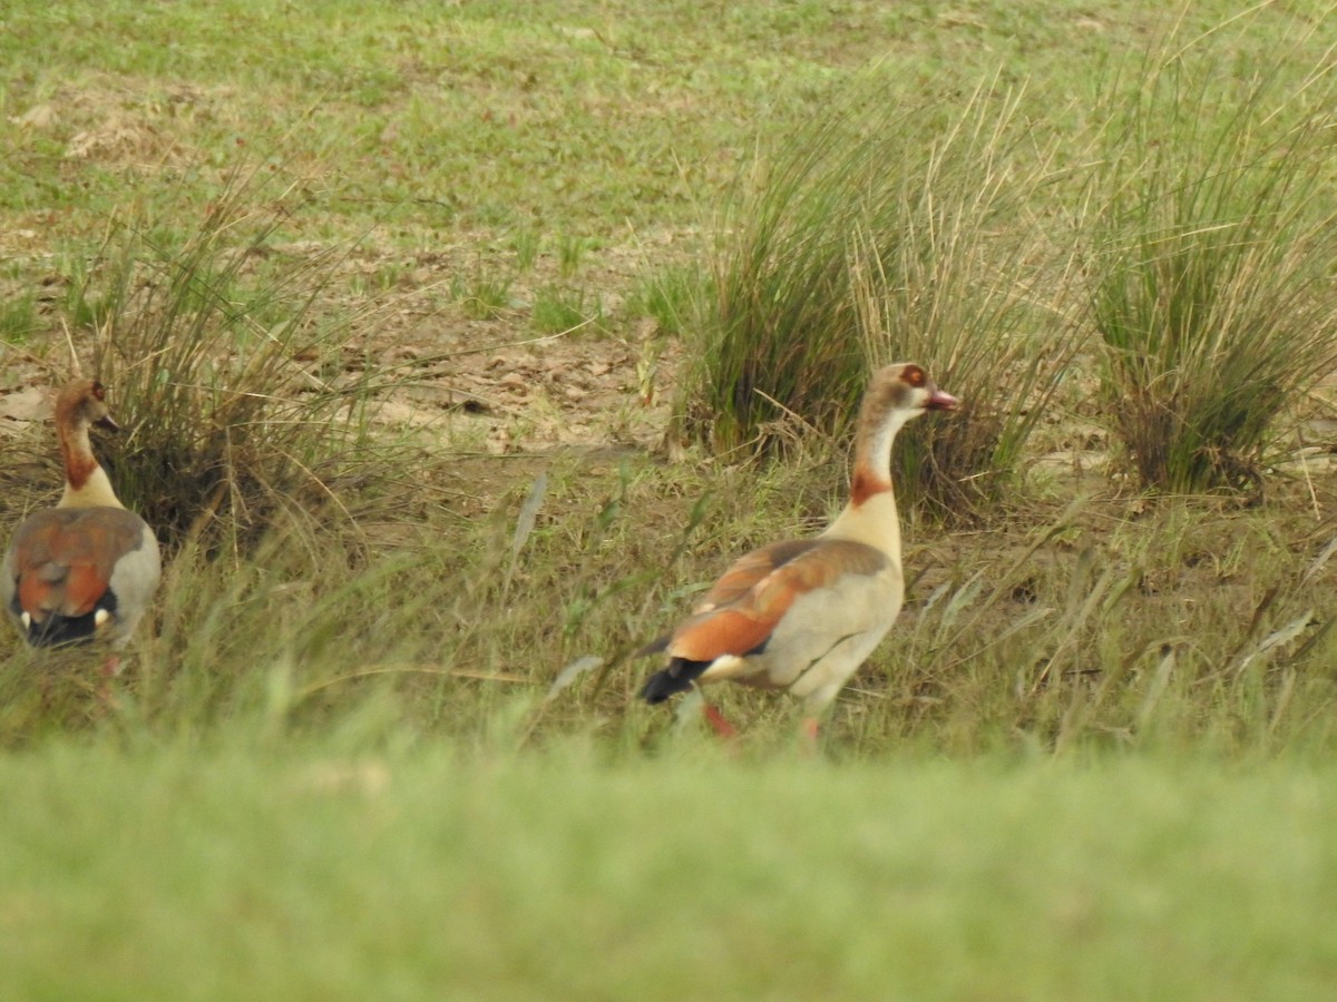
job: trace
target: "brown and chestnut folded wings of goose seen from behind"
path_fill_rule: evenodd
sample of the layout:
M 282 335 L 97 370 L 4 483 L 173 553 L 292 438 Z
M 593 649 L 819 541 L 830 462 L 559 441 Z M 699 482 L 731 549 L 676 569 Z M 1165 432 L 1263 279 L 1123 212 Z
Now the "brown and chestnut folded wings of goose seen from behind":
M 19 607 L 35 620 L 87 616 L 106 595 L 116 560 L 143 545 L 143 522 L 118 508 L 55 508 L 19 526 L 13 572 Z

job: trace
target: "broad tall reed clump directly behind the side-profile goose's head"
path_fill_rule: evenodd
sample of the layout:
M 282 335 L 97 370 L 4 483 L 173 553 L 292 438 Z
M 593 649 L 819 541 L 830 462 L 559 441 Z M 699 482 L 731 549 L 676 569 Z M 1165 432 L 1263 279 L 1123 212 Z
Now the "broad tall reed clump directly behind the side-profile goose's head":
M 910 359 L 965 401 L 900 450 L 909 505 L 995 501 L 1078 342 L 1034 212 L 1054 180 L 1021 95 L 894 108 L 865 81 L 763 159 L 726 214 L 686 433 L 769 448 L 797 414 L 844 436 L 870 369 Z

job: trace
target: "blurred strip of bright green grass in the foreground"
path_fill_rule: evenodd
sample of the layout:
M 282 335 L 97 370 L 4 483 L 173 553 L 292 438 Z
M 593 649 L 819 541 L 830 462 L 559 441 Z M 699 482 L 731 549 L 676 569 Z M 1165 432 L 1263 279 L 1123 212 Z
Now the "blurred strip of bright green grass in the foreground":
M 1332 990 L 1328 766 L 836 767 L 702 748 L 608 766 L 590 749 L 338 747 L 52 747 L 0 763 L 9 991 Z

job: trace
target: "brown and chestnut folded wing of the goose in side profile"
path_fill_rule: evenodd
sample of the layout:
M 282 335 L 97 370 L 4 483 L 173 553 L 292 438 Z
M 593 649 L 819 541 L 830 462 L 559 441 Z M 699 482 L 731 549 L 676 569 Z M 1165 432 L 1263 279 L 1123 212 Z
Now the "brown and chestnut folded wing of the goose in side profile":
M 739 558 L 706 593 L 695 615 L 668 640 L 668 653 L 689 661 L 742 657 L 765 648 L 797 599 L 845 574 L 876 574 L 880 550 L 850 540 L 777 542 Z

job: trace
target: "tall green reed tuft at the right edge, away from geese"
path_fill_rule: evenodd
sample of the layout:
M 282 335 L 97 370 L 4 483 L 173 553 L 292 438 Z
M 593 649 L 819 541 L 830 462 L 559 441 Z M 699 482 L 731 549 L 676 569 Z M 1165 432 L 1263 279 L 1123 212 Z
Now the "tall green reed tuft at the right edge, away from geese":
M 1186 48 L 1110 88 L 1090 315 L 1144 488 L 1257 490 L 1337 365 L 1330 65 L 1285 86 Z

